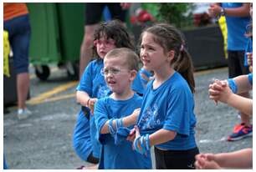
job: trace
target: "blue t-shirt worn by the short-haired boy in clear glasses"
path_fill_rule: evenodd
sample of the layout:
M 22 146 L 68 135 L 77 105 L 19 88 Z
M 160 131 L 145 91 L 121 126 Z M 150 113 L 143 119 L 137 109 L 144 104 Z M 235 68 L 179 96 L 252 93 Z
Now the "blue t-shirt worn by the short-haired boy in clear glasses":
M 99 99 L 95 104 L 95 123 L 97 136 L 103 143 L 103 154 L 100 156 L 100 168 L 104 169 L 151 169 L 151 155 L 137 153 L 132 149 L 132 143 L 124 140 L 115 144 L 111 134 L 100 134 L 105 122 L 109 119 L 120 119 L 141 108 L 141 97 L 137 94 L 131 99 L 115 100 L 110 97 Z M 130 126 L 132 129 L 134 126 Z

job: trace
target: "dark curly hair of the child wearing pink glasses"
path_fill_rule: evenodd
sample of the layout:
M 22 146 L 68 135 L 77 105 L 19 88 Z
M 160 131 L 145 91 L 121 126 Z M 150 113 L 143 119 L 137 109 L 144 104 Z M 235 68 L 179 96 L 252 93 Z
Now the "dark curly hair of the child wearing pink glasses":
M 119 20 L 100 23 L 100 26 L 95 29 L 94 41 L 103 37 L 115 40 L 116 48 L 135 49 L 134 44 L 131 42 L 131 36 L 127 33 L 124 24 Z M 97 54 L 95 46 L 93 47 L 93 52 Z

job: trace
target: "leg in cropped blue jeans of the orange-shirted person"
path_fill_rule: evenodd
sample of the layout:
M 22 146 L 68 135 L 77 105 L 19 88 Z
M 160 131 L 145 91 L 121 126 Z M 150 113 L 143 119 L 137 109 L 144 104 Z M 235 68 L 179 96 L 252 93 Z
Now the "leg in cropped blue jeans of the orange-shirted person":
M 10 44 L 13 49 L 13 66 L 17 73 L 18 109 L 26 109 L 29 89 L 28 50 L 30 41 L 30 24 L 28 15 L 13 18 Z

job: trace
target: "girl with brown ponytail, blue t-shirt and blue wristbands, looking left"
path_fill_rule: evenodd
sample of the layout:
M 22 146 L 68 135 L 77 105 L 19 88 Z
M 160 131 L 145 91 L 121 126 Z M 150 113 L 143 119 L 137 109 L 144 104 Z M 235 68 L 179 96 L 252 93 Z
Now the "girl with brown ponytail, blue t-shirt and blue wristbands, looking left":
M 141 154 L 155 146 L 156 169 L 194 169 L 199 153 L 195 83 L 182 34 L 166 23 L 146 28 L 141 33 L 141 60 L 154 79 L 147 84 L 137 126 L 128 139 Z

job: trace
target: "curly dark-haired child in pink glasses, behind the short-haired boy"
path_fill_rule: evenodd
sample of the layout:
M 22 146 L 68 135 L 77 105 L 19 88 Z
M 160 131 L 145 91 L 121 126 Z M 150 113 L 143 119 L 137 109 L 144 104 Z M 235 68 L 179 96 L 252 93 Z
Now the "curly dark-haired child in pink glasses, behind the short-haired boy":
M 76 89 L 76 99 L 82 108 L 74 129 L 74 150 L 81 159 L 93 164 L 97 164 L 100 157 L 100 143 L 95 138 L 94 104 L 98 99 L 110 94 L 104 76 L 100 73 L 103 68 L 103 59 L 111 49 L 123 47 L 134 49 L 125 27 L 116 20 L 100 23 L 94 33 L 93 50 L 97 58 L 85 68 Z M 140 81 L 139 76 L 136 78 Z M 137 93 L 143 94 L 140 82 L 134 83 L 132 88 Z

